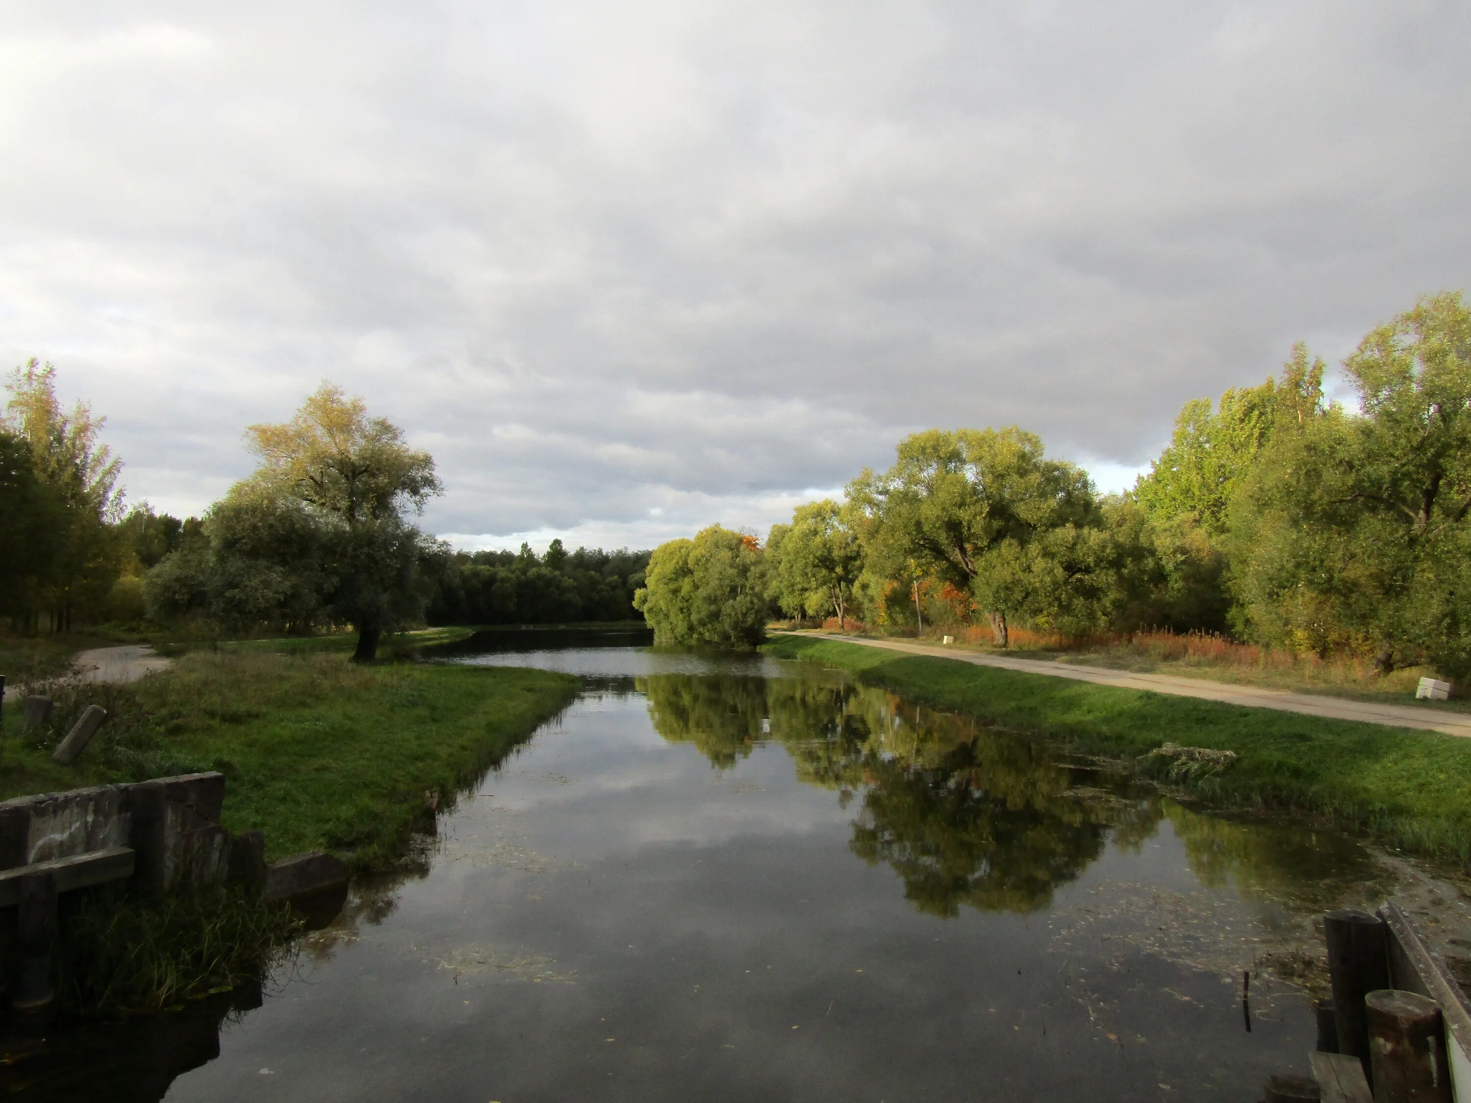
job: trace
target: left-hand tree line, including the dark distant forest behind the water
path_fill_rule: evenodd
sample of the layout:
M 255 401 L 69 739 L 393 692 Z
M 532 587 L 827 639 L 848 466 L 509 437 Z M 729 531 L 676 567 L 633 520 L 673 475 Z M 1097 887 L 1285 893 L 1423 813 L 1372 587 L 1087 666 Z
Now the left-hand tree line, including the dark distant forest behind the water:
M 252 425 L 259 466 L 203 518 L 124 509 L 104 419 L 69 412 L 56 371 L 16 369 L 0 421 L 0 616 L 66 631 L 143 622 L 196 632 L 350 625 L 356 657 L 416 624 L 635 618 L 649 553 L 553 541 L 544 556 L 453 552 L 413 516 L 441 491 L 434 459 L 324 384 L 296 416 Z

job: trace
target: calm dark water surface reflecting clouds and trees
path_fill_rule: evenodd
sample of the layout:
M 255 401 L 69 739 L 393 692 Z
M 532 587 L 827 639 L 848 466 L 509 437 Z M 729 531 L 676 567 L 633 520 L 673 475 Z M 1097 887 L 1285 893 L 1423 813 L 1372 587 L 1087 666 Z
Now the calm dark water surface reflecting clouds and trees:
M 1390 887 L 836 672 L 527 635 L 453 660 L 583 694 L 405 874 L 259 1006 L 47 1040 L 25 1096 L 1255 1100 L 1306 1071 L 1312 918 Z

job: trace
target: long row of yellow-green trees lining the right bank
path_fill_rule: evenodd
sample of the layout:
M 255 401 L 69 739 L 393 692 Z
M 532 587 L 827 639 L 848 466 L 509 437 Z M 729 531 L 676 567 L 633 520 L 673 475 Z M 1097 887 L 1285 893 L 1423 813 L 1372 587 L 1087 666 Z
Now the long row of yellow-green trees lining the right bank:
M 635 604 L 660 638 L 750 644 L 765 618 L 1061 637 L 1219 632 L 1381 672 L 1471 674 L 1471 310 L 1422 299 L 1344 363 L 1330 401 L 1296 346 L 1277 378 L 1181 410 L 1125 494 L 1016 426 L 930 429 L 843 501 L 655 550 Z

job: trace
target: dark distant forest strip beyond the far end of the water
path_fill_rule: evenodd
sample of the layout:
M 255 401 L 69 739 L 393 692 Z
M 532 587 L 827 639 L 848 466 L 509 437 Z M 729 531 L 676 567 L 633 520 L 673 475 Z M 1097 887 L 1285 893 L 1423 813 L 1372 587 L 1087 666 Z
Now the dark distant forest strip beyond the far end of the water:
M 546 556 L 457 552 L 438 563 L 428 622 L 434 625 L 569 624 L 633 621 L 634 591 L 649 552 L 568 552 L 553 540 Z

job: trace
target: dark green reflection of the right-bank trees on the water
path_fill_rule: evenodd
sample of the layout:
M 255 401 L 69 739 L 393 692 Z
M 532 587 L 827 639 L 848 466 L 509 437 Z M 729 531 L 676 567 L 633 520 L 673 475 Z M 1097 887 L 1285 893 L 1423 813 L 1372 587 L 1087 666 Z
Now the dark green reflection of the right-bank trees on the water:
M 655 729 L 718 768 L 762 738 L 786 746 L 800 781 L 861 796 L 852 849 L 888 863 L 913 904 L 1030 912 L 1102 852 L 1109 827 L 1141 812 L 1075 788 L 1075 771 L 1036 741 L 902 706 L 883 690 L 762 678 L 640 679 Z

